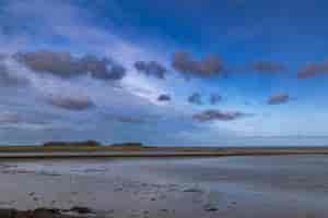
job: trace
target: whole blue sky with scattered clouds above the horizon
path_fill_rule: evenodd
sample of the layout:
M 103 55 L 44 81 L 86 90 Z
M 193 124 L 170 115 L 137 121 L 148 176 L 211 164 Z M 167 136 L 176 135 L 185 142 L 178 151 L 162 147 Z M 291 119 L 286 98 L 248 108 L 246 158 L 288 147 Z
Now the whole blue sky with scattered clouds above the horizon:
M 0 144 L 327 145 L 325 0 L 0 0 Z

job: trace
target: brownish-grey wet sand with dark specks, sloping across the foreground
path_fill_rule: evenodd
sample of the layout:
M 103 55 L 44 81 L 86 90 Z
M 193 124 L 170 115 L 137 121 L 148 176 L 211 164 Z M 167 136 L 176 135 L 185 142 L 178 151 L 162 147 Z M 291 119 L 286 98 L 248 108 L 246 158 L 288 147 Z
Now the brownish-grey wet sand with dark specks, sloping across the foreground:
M 145 182 L 115 172 L 106 177 L 57 174 L 22 170 L 11 162 L 0 166 L 0 207 L 20 210 L 79 206 L 93 210 L 83 216 L 113 218 L 328 217 L 327 210 L 308 209 L 297 202 L 248 199 L 224 191 L 207 191 L 200 185 Z

